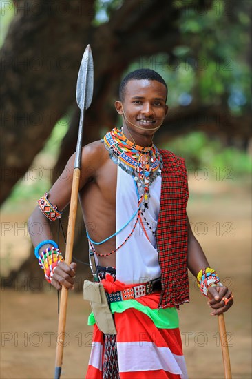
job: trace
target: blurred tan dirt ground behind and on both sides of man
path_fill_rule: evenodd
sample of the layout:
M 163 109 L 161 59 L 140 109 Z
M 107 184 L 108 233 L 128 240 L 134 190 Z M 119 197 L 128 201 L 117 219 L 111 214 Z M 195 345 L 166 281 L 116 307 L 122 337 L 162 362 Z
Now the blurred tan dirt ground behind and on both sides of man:
M 190 178 L 188 214 L 204 252 L 235 297 L 225 314 L 233 378 L 251 378 L 251 196 L 237 181 L 196 181 Z M 8 223 L 28 215 L 2 214 Z M 6 224 L 8 225 L 8 224 Z M 8 228 L 7 228 L 8 229 Z M 28 254 L 28 236 L 6 229 L 1 243 L 2 274 Z M 3 234 L 2 234 L 3 236 Z M 20 240 L 19 240 L 20 238 Z M 22 243 L 20 243 L 20 241 Z M 21 247 L 22 246 L 22 247 Z M 18 247 L 18 248 L 17 248 Z M 189 274 L 191 302 L 180 307 L 180 330 L 189 378 L 224 378 L 218 320 Z M 53 378 L 56 351 L 57 296 L 37 283 L 1 289 L 1 373 L 5 378 Z M 33 291 L 30 291 L 33 289 Z M 70 293 L 61 378 L 84 378 L 90 355 L 90 306 L 82 294 Z M 132 379 L 134 379 L 132 377 Z

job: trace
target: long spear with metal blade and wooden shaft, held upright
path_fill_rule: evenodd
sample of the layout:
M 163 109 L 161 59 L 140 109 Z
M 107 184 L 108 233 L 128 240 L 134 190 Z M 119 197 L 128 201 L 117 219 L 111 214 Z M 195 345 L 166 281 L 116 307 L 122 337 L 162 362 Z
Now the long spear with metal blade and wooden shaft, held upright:
M 82 134 L 83 134 L 83 121 L 84 112 L 90 107 L 94 87 L 94 68 L 93 57 L 90 45 L 87 45 L 83 58 L 81 60 L 81 67 L 78 71 L 78 80 L 76 88 L 76 101 L 78 107 L 81 109 L 80 123 L 78 127 L 78 141 L 76 147 L 76 156 L 74 161 L 74 173 L 72 179 L 72 192 L 70 200 L 70 212 L 67 227 L 67 245 L 65 249 L 65 263 L 70 265 L 72 260 L 72 249 L 74 245 L 74 227 L 76 221 L 76 210 L 78 205 L 78 187 L 81 175 L 81 148 L 82 148 Z M 67 317 L 67 296 L 68 290 L 62 286 L 61 291 L 61 305 L 59 311 L 59 326 L 56 346 L 56 365 L 54 379 L 61 377 L 61 365 L 63 360 L 63 347 L 65 340 L 65 321 Z

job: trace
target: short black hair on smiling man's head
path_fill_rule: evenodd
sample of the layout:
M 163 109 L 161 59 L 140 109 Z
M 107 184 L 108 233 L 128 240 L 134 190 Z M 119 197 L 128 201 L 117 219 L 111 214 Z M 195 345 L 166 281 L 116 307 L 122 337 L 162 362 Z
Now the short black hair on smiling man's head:
M 166 92 L 168 93 L 167 84 L 165 83 L 164 79 L 162 79 L 162 76 L 158 74 L 158 72 L 151 70 L 150 68 L 139 68 L 138 70 L 129 72 L 129 74 L 127 74 L 125 78 L 123 78 L 123 80 L 120 82 L 120 87 L 119 87 L 120 101 L 123 101 L 125 99 L 125 89 L 126 89 L 127 83 L 131 80 L 142 80 L 142 79 L 159 81 L 159 83 L 162 83 L 163 85 L 165 85 Z M 167 100 L 167 95 L 166 95 L 165 101 L 166 100 Z

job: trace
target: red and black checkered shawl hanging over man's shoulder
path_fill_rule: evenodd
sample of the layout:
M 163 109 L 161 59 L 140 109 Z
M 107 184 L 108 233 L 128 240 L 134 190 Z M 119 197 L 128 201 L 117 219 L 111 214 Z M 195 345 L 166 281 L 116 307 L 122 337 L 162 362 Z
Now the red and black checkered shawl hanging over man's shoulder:
M 185 160 L 159 150 L 162 161 L 160 213 L 156 229 L 162 294 L 159 307 L 189 301 L 187 274 L 187 170 Z

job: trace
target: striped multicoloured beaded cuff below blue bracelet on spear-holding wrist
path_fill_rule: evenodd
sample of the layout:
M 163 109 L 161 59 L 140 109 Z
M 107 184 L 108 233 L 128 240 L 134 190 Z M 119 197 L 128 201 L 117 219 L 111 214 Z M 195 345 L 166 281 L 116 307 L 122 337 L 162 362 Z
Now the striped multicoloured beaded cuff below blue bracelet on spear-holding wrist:
M 63 262 L 63 260 L 63 256 L 58 248 L 51 246 L 41 252 L 39 266 L 44 270 L 45 279 L 48 283 L 52 283 L 54 270 L 59 262 Z

